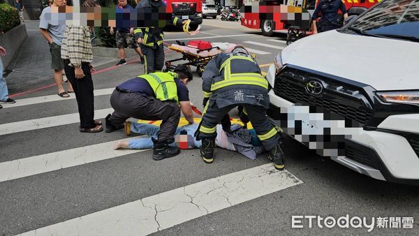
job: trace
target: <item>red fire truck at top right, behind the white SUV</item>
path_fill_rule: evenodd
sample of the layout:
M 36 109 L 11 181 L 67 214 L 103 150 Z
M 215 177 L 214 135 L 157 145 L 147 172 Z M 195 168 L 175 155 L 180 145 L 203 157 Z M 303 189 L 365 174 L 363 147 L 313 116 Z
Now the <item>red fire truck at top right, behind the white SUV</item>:
M 261 29 L 264 36 L 274 31 L 288 32 L 288 27 L 311 29 L 311 15 L 318 0 L 243 0 L 242 25 Z M 343 0 L 348 15 L 360 15 L 381 0 Z

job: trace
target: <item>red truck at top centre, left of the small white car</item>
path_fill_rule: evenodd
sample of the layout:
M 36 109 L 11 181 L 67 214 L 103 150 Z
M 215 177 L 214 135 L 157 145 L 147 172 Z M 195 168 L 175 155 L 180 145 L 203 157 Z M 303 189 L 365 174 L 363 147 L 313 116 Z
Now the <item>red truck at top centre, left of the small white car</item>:
M 191 20 L 202 24 L 203 1 L 202 0 L 163 0 L 166 3 L 166 11 L 173 13 L 183 20 Z

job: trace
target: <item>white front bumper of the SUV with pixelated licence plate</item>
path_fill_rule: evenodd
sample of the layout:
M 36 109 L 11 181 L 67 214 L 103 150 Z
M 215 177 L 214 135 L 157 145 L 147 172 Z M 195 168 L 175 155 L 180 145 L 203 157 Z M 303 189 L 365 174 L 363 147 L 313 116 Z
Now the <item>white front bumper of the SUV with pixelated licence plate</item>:
M 267 74 L 271 83 L 275 73 L 271 66 Z M 274 89 L 270 89 L 269 95 L 268 115 L 277 120 L 285 133 L 310 149 L 316 149 L 318 154 L 330 156 L 374 179 L 419 185 L 419 114 L 392 115 L 376 129 L 367 131 L 362 127 L 347 128 L 345 121 L 324 119 L 323 113 L 312 112 L 306 105 L 295 105 L 277 96 Z M 323 133 L 328 129 L 330 133 Z M 335 134 L 346 135 L 344 150 L 339 154 L 327 149 L 327 142 L 334 138 L 325 136 Z

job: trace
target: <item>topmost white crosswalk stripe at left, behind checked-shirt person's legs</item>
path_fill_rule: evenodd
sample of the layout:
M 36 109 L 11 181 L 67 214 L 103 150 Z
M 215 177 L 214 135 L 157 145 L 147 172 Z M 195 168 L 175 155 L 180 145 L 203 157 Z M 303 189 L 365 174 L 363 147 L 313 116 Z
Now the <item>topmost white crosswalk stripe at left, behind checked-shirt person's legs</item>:
M 114 91 L 115 88 L 110 89 L 97 89 L 94 90 L 94 96 L 101 96 L 101 95 L 109 95 L 112 94 L 112 91 Z M 75 99 L 75 94 L 71 94 L 69 98 L 61 98 L 57 94 L 54 95 L 48 95 L 48 96 L 38 96 L 33 98 L 23 98 L 23 99 L 16 99 L 16 103 L 13 104 L 2 104 L 3 108 L 15 108 L 22 105 L 34 105 L 39 103 L 49 103 L 54 101 L 67 101 Z

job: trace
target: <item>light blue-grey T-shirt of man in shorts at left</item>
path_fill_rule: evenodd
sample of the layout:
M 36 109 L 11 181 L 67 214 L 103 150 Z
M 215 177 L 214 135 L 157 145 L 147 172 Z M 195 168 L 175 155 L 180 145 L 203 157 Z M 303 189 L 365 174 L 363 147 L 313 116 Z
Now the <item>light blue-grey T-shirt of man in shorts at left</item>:
M 66 31 L 66 13 L 51 14 L 51 7 L 44 8 L 41 13 L 39 28 L 46 29 L 55 44 L 61 46 Z

